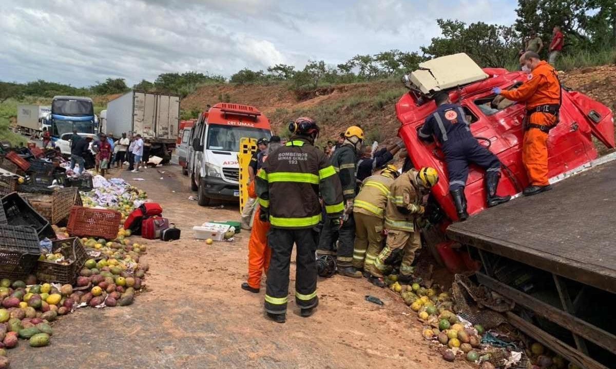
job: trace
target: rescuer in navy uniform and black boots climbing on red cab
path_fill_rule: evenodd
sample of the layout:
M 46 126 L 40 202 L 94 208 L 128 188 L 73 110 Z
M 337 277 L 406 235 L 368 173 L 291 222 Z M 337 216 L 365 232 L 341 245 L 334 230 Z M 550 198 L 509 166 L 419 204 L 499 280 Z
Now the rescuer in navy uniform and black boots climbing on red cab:
M 449 94 L 442 91 L 434 95 L 434 102 L 437 106 L 436 112 L 426 118 L 417 134 L 424 141 L 433 141 L 436 138 L 445 154 L 449 174 L 449 192 L 456 205 L 458 219 L 464 221 L 468 218 L 464 187 L 468 178 L 469 163 L 477 164 L 485 169 L 488 207 L 509 201 L 511 196 L 496 196 L 501 162 L 495 154 L 479 145 L 477 138 L 472 136 L 470 123 L 462 107 L 452 104 Z

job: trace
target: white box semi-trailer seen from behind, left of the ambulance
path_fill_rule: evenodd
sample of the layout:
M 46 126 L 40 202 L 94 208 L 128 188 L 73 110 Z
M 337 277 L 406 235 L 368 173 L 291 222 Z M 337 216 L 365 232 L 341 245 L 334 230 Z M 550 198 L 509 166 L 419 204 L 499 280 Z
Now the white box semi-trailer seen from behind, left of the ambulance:
M 107 103 L 105 133 L 141 135 L 150 145 L 150 156 L 161 157 L 166 164 L 176 147 L 179 116 L 179 95 L 133 90 Z

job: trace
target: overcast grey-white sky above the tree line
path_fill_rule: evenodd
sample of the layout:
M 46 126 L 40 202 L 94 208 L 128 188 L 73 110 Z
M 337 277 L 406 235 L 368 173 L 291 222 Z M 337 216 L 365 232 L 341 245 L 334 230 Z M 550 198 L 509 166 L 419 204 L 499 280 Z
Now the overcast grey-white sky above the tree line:
M 129 85 L 160 73 L 230 76 L 308 59 L 418 51 L 436 18 L 509 25 L 516 0 L 2 0 L 0 80 Z

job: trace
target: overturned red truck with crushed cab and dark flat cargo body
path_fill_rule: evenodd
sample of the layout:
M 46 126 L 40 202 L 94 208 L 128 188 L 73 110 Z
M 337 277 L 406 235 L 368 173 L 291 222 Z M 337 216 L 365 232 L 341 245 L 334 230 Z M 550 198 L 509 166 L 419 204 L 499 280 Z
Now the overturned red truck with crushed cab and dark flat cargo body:
M 529 76 L 482 69 L 465 54 L 419 67 L 403 77 L 409 91 L 395 108 L 408 159 L 440 175 L 426 204 L 431 224 L 422 230 L 424 244 L 450 271 L 474 274 L 476 283 L 513 301 L 506 320 L 575 367 L 615 368 L 616 154 L 599 157 L 594 143 L 616 148 L 612 111 L 563 86 L 560 121 L 548 138 L 553 189 L 522 197 L 529 184 L 522 164 L 525 106 L 495 100 L 492 88 L 514 89 Z M 499 194 L 513 196 L 487 208 L 484 171 L 471 165 L 464 188 L 471 217 L 464 222 L 448 194 L 441 148 L 418 137 L 439 91 L 462 106 L 472 134 L 498 156 Z M 488 316 L 456 312 L 472 323 Z

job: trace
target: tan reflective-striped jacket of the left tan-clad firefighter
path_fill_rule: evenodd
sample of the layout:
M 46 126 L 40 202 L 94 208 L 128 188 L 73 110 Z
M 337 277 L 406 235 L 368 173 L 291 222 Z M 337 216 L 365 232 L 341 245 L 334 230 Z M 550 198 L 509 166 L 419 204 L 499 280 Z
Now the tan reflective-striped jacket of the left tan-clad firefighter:
M 353 212 L 383 219 L 389 186 L 392 183 L 394 183 L 392 178 L 380 174 L 366 178 L 353 201 Z

